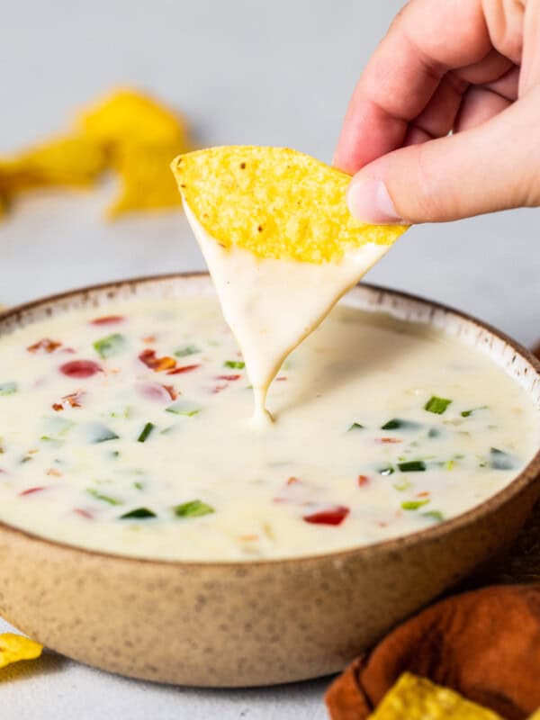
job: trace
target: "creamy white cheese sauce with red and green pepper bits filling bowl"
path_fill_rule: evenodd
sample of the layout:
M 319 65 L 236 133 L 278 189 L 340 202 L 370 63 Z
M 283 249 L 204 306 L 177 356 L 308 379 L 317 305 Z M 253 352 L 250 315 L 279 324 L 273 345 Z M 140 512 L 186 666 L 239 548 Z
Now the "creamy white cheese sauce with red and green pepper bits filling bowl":
M 473 508 L 538 446 L 536 409 L 486 356 L 343 303 L 278 372 L 278 422 L 250 422 L 249 385 L 212 296 L 0 338 L 0 519 L 137 557 L 320 554 Z

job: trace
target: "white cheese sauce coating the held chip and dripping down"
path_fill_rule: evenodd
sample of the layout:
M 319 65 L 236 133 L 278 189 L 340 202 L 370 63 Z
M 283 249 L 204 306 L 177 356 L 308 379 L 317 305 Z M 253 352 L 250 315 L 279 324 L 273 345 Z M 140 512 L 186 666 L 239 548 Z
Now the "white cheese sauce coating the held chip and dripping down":
M 255 419 L 271 419 L 266 394 L 285 357 L 392 246 L 366 243 L 320 265 L 263 259 L 242 247 L 221 247 L 187 202 L 184 210 L 245 358 Z

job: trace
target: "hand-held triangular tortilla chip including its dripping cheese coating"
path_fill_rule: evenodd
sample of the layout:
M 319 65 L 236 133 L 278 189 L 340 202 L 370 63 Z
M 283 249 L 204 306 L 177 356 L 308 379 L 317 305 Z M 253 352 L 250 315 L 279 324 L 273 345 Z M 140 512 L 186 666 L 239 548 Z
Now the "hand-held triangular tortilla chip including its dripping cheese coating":
M 406 227 L 358 222 L 349 176 L 287 148 L 198 150 L 172 169 L 260 415 L 284 358 Z

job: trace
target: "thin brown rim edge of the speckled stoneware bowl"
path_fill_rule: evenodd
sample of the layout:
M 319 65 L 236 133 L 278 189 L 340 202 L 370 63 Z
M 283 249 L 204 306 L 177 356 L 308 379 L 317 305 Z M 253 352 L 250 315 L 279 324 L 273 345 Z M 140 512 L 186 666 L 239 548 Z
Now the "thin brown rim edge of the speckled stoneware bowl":
M 170 280 L 189 280 L 190 278 L 202 278 L 209 277 L 209 273 L 206 271 L 187 271 L 178 273 L 165 273 L 157 275 L 141 275 L 139 277 L 127 278 L 123 280 L 113 280 L 105 283 L 85 285 L 81 288 L 75 288 L 67 290 L 62 293 L 53 293 L 45 297 L 32 300 L 30 302 L 24 302 L 14 307 L 8 307 L 4 311 L 0 311 L 0 330 L 4 325 L 5 320 L 13 319 L 15 323 L 20 321 L 21 317 L 33 310 L 36 310 L 42 306 L 48 304 L 54 304 L 67 300 L 72 297 L 84 296 L 89 293 L 100 293 L 106 290 L 120 290 L 126 286 L 138 286 L 141 284 L 159 283 L 160 281 Z M 401 290 L 394 290 L 392 288 L 386 288 L 382 285 L 372 283 L 358 283 L 354 286 L 364 287 L 372 293 L 386 293 L 390 294 L 398 299 L 407 302 L 418 302 L 419 304 L 428 306 L 434 311 L 442 311 L 445 314 L 454 315 L 458 320 L 464 320 L 465 322 L 477 325 L 479 328 L 487 331 L 495 338 L 500 339 L 503 343 L 511 347 L 516 355 L 521 356 L 528 365 L 530 365 L 535 371 L 536 375 L 540 379 L 540 360 L 533 355 L 533 353 L 526 347 L 522 346 L 518 341 L 510 338 L 506 333 L 499 329 L 494 328 L 487 322 L 479 320 L 473 315 L 456 310 L 450 305 L 446 305 L 442 302 L 432 301 L 428 298 L 416 295 L 414 293 L 407 293 Z M 353 288 L 354 289 L 354 288 Z M 429 324 L 429 321 L 428 321 Z M 444 332 L 444 330 L 442 330 Z M 0 335 L 1 338 L 1 335 Z M 527 391 L 526 391 L 527 392 Z M 540 447 L 536 450 L 536 454 L 531 458 L 527 465 L 521 470 L 518 475 L 514 477 L 509 484 L 502 488 L 502 490 L 491 495 L 487 500 L 484 500 L 479 505 L 474 506 L 472 509 L 466 510 L 464 513 L 457 515 L 455 518 L 450 518 L 443 521 L 440 524 L 427 527 L 423 530 L 418 530 L 414 533 L 410 533 L 404 536 L 392 537 L 388 540 L 383 540 L 373 545 L 356 545 L 354 547 L 348 547 L 344 550 L 332 551 L 330 553 L 318 553 L 318 554 L 305 554 L 297 555 L 293 557 L 282 557 L 282 558 L 267 558 L 261 560 L 167 560 L 159 558 L 148 558 L 148 557 L 137 557 L 136 555 L 124 555 L 114 552 L 104 552 L 101 550 L 92 550 L 86 547 L 80 547 L 78 545 L 71 545 L 69 543 L 58 542 L 48 537 L 40 536 L 32 533 L 28 530 L 23 530 L 19 527 L 11 526 L 8 522 L 0 520 L 0 532 L 8 533 L 14 536 L 22 536 L 25 539 L 42 543 L 44 545 L 52 546 L 55 550 L 60 551 L 75 551 L 76 553 L 89 556 L 94 559 L 102 559 L 103 561 L 121 561 L 124 563 L 131 564 L 144 564 L 147 566 L 159 567 L 159 568 L 182 568 L 182 569 L 198 569 L 198 570 L 226 570 L 231 568 L 252 568 L 262 567 L 271 568 L 280 566 L 290 566 L 294 563 L 344 563 L 347 560 L 357 555 L 362 555 L 367 561 L 376 559 L 378 555 L 383 556 L 385 554 L 392 554 L 404 549 L 420 545 L 424 542 L 435 541 L 437 542 L 441 537 L 446 535 L 454 534 L 464 527 L 486 518 L 491 513 L 500 509 L 501 506 L 505 505 L 509 500 L 512 500 L 516 495 L 525 491 L 526 488 L 538 480 L 540 475 Z

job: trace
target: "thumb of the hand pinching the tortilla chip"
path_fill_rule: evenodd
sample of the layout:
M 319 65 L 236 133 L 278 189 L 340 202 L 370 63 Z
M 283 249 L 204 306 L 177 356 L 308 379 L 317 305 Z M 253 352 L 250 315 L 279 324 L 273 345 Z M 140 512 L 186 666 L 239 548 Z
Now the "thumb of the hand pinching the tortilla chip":
M 353 177 L 365 222 L 442 222 L 540 205 L 540 87 L 472 130 L 379 157 Z

